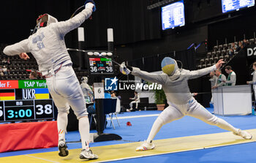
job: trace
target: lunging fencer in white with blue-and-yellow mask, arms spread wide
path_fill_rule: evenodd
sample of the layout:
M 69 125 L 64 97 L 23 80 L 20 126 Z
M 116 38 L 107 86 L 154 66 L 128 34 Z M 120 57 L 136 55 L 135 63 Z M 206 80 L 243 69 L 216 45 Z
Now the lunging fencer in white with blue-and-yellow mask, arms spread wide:
M 209 113 L 208 110 L 194 99 L 189 91 L 188 80 L 207 75 L 215 69 L 219 69 L 223 63 L 222 60 L 219 60 L 218 63 L 212 67 L 199 69 L 197 71 L 189 71 L 187 69 L 178 69 L 177 63 L 173 58 L 165 57 L 162 60 L 163 73 L 160 75 L 151 74 L 135 67 L 126 66 L 125 63 L 121 64 L 120 71 L 123 74 L 129 74 L 131 72 L 132 75 L 138 76 L 148 82 L 162 84 L 162 89 L 165 91 L 167 103 L 169 105 L 162 111 L 157 120 L 154 121 L 148 139 L 140 145 L 136 151 L 153 149 L 154 144 L 152 143 L 152 140 L 157 132 L 159 132 L 159 129 L 161 129 L 164 124 L 180 119 L 184 117 L 184 115 L 199 118 L 207 124 L 219 126 L 219 128 L 233 132 L 236 135 L 244 137 L 244 139 L 252 139 L 252 134 L 249 132 L 236 129 L 221 118 L 217 118 L 217 116 Z

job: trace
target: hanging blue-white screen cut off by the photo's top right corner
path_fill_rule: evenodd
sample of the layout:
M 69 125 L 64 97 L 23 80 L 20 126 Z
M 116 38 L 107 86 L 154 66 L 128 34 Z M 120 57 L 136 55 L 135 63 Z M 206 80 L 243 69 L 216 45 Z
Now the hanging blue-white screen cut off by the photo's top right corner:
M 255 0 L 222 0 L 222 13 L 239 10 L 244 7 L 252 7 Z

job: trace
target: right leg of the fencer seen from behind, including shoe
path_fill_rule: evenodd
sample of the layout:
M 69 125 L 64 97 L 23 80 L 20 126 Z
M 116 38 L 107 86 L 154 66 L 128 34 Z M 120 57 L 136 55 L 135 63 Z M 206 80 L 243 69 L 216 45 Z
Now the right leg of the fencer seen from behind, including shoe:
M 80 88 L 78 77 L 76 77 L 74 70 L 71 66 L 62 67 L 61 70 L 56 74 L 58 83 L 56 83 L 56 90 L 58 94 L 67 100 L 67 103 L 74 110 L 75 115 L 79 121 L 79 130 L 83 146 L 83 150 L 80 153 L 80 159 L 97 159 L 98 156 L 94 155 L 91 150 L 87 151 L 86 146 L 89 148 L 89 119 L 87 117 L 88 113 L 86 110 L 86 102 L 83 98 L 83 91 Z M 83 118 L 86 117 L 86 118 Z

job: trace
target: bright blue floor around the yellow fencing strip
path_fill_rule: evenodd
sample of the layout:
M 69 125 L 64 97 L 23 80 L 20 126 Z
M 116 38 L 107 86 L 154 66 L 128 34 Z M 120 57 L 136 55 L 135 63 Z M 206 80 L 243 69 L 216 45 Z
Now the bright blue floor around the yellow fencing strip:
M 210 112 L 213 112 L 211 108 L 208 108 Z M 119 114 L 118 117 L 132 116 L 132 115 L 151 115 L 159 114 L 160 111 L 141 111 Z M 229 122 L 233 126 L 240 129 L 256 129 L 256 116 L 220 116 Z M 108 141 L 91 143 L 91 147 L 101 145 L 113 145 L 120 143 L 129 143 L 128 141 L 143 141 L 146 140 L 148 133 L 150 132 L 151 126 L 157 116 L 143 117 L 143 118 L 129 118 L 120 119 L 121 127 L 118 126 L 116 120 L 114 124 L 116 129 L 113 129 L 108 121 L 107 129 L 105 133 L 119 134 L 124 141 Z M 130 121 L 132 126 L 127 126 L 127 121 Z M 96 132 L 96 131 L 91 131 Z M 166 124 L 159 131 L 155 140 L 167 139 L 172 137 L 185 137 L 198 134 L 212 134 L 218 132 L 226 132 L 225 130 L 219 129 L 217 126 L 210 126 L 203 123 L 196 118 L 185 116 L 178 121 L 173 121 L 170 124 Z M 80 136 L 78 132 L 69 132 L 67 134 L 67 142 L 78 141 Z M 69 143 L 69 149 L 80 148 L 80 143 Z M 35 149 L 27 151 L 14 151 L 8 153 L 0 153 L 0 157 L 3 156 L 16 156 L 20 154 L 28 153 L 41 153 L 48 151 L 57 151 L 57 148 L 48 149 Z M 118 162 L 256 162 L 256 143 L 248 143 L 242 145 L 230 145 L 226 147 L 210 148 L 198 151 L 187 151 L 181 153 L 171 153 L 159 156 L 148 156 L 138 159 L 129 159 Z

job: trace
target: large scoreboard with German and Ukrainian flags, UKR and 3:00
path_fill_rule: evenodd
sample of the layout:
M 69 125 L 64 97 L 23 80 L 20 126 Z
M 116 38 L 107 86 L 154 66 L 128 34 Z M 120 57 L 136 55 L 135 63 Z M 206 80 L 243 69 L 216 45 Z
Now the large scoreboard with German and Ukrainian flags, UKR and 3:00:
M 0 122 L 53 119 L 45 80 L 0 80 Z

